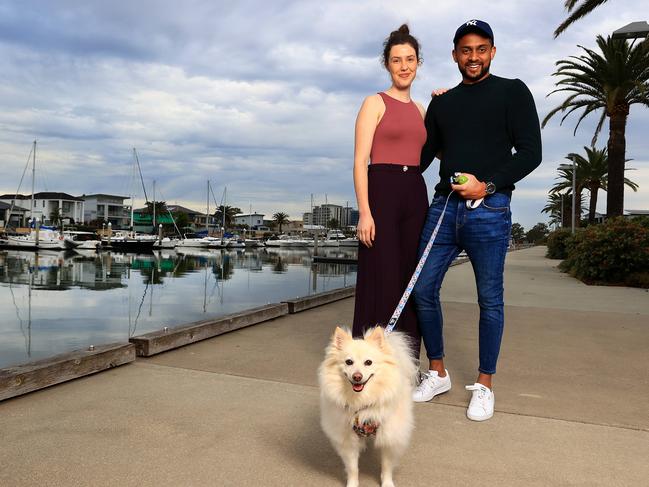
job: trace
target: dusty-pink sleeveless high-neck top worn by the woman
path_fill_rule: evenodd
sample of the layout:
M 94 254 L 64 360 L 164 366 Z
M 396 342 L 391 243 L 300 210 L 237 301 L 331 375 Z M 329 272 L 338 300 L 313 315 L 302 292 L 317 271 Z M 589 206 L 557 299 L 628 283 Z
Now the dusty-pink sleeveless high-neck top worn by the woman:
M 372 164 L 419 166 L 421 148 L 426 143 L 426 127 L 417 105 L 379 93 L 385 113 L 376 126 L 370 161 Z

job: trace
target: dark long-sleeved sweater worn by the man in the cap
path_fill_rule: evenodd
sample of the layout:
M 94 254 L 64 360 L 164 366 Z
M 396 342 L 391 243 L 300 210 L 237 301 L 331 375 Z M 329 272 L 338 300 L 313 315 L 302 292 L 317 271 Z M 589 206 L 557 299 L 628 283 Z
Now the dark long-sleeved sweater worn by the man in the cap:
M 519 79 L 489 75 L 433 97 L 426 130 L 422 170 L 441 152 L 436 193 L 448 194 L 449 177 L 466 172 L 511 195 L 514 183 L 541 163 L 539 117 L 532 93 Z

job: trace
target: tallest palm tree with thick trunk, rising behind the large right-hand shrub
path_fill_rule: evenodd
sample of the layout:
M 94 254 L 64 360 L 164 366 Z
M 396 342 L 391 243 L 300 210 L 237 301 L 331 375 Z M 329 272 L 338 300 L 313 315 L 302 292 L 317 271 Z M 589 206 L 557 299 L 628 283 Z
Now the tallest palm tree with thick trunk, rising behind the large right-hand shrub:
M 604 120 L 609 118 L 607 216 L 624 211 L 624 164 L 626 120 L 634 103 L 649 106 L 649 44 L 633 47 L 625 40 L 597 36 L 601 54 L 579 46 L 586 54 L 556 62 L 553 76 L 561 76 L 557 89 L 549 95 L 566 91 L 570 94 L 543 120 L 542 126 L 558 112 L 566 112 L 561 123 L 572 112 L 583 108 L 574 132 L 590 113 L 601 109 L 592 145 L 595 145 Z M 549 96 L 548 95 L 548 96 Z

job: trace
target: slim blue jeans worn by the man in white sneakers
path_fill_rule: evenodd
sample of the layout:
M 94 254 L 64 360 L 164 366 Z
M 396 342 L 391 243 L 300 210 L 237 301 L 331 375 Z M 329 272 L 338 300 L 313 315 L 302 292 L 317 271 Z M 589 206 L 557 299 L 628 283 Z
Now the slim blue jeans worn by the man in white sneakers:
M 428 209 L 419 254 L 442 213 L 446 196 L 436 195 Z M 480 305 L 480 372 L 494 374 L 505 322 L 503 271 L 511 233 L 510 199 L 495 193 L 476 209 L 453 193 L 444 220 L 413 290 L 419 327 L 429 359 L 444 357 L 443 317 L 439 290 L 457 255 L 465 250 L 475 274 Z M 468 283 L 467 283 L 468 284 Z

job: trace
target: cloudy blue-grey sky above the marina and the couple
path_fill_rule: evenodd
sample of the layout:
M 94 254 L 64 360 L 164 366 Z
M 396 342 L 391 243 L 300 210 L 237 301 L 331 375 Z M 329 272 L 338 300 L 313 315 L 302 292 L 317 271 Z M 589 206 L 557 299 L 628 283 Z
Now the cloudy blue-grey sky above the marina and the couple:
M 408 22 L 422 43 L 413 96 L 427 104 L 433 88 L 459 82 L 455 28 L 488 21 L 492 72 L 525 81 L 543 117 L 562 100 L 546 98 L 556 60 L 649 19 L 645 0 L 611 0 L 555 40 L 563 4 L 0 0 L 0 192 L 16 191 L 37 139 L 37 191 L 135 191 L 141 205 L 136 147 L 149 198 L 155 180 L 158 198 L 204 210 L 210 180 L 217 199 L 227 186 L 227 204 L 244 211 L 301 218 L 311 194 L 315 204 L 356 206 L 354 121 L 366 95 L 389 87 L 379 55 L 391 30 Z M 573 136 L 575 120 L 543 130 L 543 163 L 512 205 L 526 228 L 547 221 L 540 209 L 565 154 L 590 143 L 595 120 Z M 627 209 L 649 209 L 648 128 L 649 109 L 632 107 L 627 157 L 637 170 L 628 175 L 640 190 L 627 193 Z M 430 188 L 436 177 L 427 171 Z

